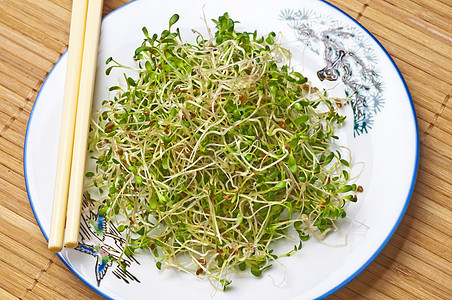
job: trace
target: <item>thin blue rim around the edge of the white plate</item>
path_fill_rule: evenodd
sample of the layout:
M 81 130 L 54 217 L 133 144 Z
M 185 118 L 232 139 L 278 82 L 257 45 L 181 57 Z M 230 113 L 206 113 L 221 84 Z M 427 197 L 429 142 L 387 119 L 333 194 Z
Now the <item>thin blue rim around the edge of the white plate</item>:
M 124 4 L 123 6 L 115 9 L 114 11 L 110 12 L 108 15 L 106 15 L 104 17 L 108 18 L 111 14 L 118 12 L 120 9 L 126 7 L 127 5 L 135 2 L 136 0 L 132 0 L 126 4 Z M 336 287 L 334 287 L 333 289 L 329 290 L 328 292 L 324 293 L 323 295 L 317 297 L 316 299 L 323 299 L 333 293 L 335 293 L 336 291 L 338 291 L 339 289 L 341 289 L 342 287 L 344 287 L 346 284 L 348 284 L 353 278 L 355 278 L 359 273 L 361 273 L 377 256 L 378 254 L 380 254 L 381 250 L 383 250 L 383 248 L 386 246 L 386 244 L 389 242 L 389 240 L 391 239 L 391 237 L 393 236 L 394 232 L 396 231 L 397 227 L 399 226 L 400 222 L 402 221 L 403 216 L 405 215 L 406 209 L 408 207 L 408 204 L 410 202 L 411 196 L 413 194 L 413 190 L 414 190 L 414 185 L 416 183 L 416 177 L 417 177 L 417 171 L 418 171 L 418 165 L 419 165 L 419 130 L 418 130 L 418 123 L 417 123 L 417 118 L 416 118 L 416 112 L 414 109 L 414 103 L 413 103 L 413 99 L 411 97 L 411 94 L 408 90 L 408 86 L 405 82 L 405 79 L 402 76 L 402 73 L 400 72 L 399 68 L 397 67 L 396 63 L 394 62 L 394 60 L 392 59 L 391 55 L 388 53 L 388 51 L 383 47 L 383 45 L 381 45 L 381 43 L 363 26 L 361 25 L 357 20 L 355 20 L 354 18 L 352 18 L 349 14 L 347 14 L 346 12 L 344 12 L 343 10 L 341 10 L 340 8 L 334 6 L 331 3 L 326 2 L 326 0 L 318 0 L 320 2 L 325 3 L 326 5 L 334 8 L 335 10 L 337 10 L 339 13 L 341 13 L 342 15 L 344 15 L 345 17 L 347 17 L 348 19 L 350 19 L 351 21 L 353 21 L 353 23 L 355 23 L 358 27 L 360 27 L 369 37 L 371 37 L 375 43 L 380 47 L 380 49 L 386 54 L 386 56 L 388 57 L 389 61 L 391 62 L 392 66 L 394 67 L 394 69 L 396 70 L 398 76 L 400 77 L 400 80 L 403 84 L 403 87 L 405 88 L 405 92 L 408 96 L 408 99 L 410 101 L 410 105 L 411 105 L 411 110 L 412 110 L 412 116 L 414 119 L 414 127 L 416 130 L 416 160 L 414 163 L 414 170 L 413 170 L 413 177 L 411 179 L 411 186 L 410 186 L 410 190 L 408 192 L 407 195 L 407 199 L 405 200 L 405 204 L 403 206 L 402 211 L 400 212 L 400 215 L 396 221 L 396 223 L 394 224 L 394 227 L 391 229 L 391 231 L 389 232 L 388 236 L 386 237 L 386 239 L 382 242 L 382 244 L 380 245 L 380 247 L 375 251 L 375 253 L 359 268 L 357 269 L 353 274 L 351 274 L 347 279 L 345 279 L 343 282 L 341 282 L 340 284 L 338 284 Z M 67 51 L 66 51 L 67 52 Z M 47 75 L 46 79 L 44 80 L 42 86 L 44 86 L 46 84 L 47 78 L 49 78 L 49 76 L 52 74 L 53 70 L 55 69 L 55 67 L 61 62 L 61 58 L 66 55 L 66 52 L 63 53 L 63 55 L 60 57 L 60 59 L 58 59 L 58 61 L 55 63 L 55 65 L 53 66 L 52 70 L 50 70 L 49 74 Z M 42 88 L 41 86 L 41 88 Z M 26 165 L 27 165 L 27 156 L 26 156 L 26 152 L 27 152 L 27 141 L 28 141 L 28 130 L 30 128 L 30 122 L 32 120 L 33 117 L 33 113 L 34 113 L 34 109 L 36 106 L 36 103 L 38 102 L 39 96 L 41 94 L 41 89 L 38 92 L 38 95 L 36 96 L 36 100 L 33 104 L 33 108 L 31 109 L 31 113 L 30 113 L 30 117 L 28 120 L 28 124 L 27 124 L 27 130 L 25 133 L 25 141 L 24 141 L 24 152 L 23 152 L 23 156 L 24 156 L 24 178 L 25 178 L 25 186 L 27 188 L 27 195 L 28 195 L 28 200 L 30 202 L 30 206 L 31 209 L 33 211 L 33 214 L 35 215 L 35 219 L 39 225 L 39 228 L 41 229 L 42 234 L 44 235 L 45 239 L 48 241 L 49 238 L 47 236 L 47 234 L 45 233 L 43 226 L 41 225 L 41 222 L 39 221 L 39 217 L 35 212 L 35 207 L 33 205 L 33 200 L 31 199 L 30 193 L 29 193 L 29 188 L 28 188 L 28 176 L 27 176 L 27 169 L 26 169 Z M 106 295 L 104 292 L 102 292 L 98 287 L 92 285 L 91 283 L 89 283 L 77 270 L 75 270 L 68 262 L 66 262 L 66 260 L 62 257 L 62 255 L 60 253 L 57 253 L 57 256 L 61 259 L 61 261 L 68 267 L 68 269 L 74 273 L 81 281 L 83 281 L 89 288 L 91 288 L 92 290 L 96 291 L 98 294 L 100 294 L 101 296 L 107 298 L 107 299 L 113 299 L 111 296 Z

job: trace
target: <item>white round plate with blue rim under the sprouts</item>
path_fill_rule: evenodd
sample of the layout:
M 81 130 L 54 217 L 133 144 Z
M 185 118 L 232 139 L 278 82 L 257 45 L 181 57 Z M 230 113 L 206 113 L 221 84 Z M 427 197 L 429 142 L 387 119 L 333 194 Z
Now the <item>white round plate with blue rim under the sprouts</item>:
M 204 5 L 205 4 L 205 5 Z M 193 38 L 191 29 L 206 34 L 202 20 L 224 12 L 240 23 L 238 30 L 262 35 L 282 33 L 284 45 L 294 56 L 293 65 L 317 86 L 344 96 L 355 84 L 367 106 L 361 106 L 364 117 L 354 115 L 350 106 L 347 125 L 339 131 L 341 143 L 352 149 L 353 161 L 363 162 L 359 184 L 364 186 L 359 201 L 349 205 L 348 218 L 341 231 L 326 242 L 347 245 L 332 247 L 315 240 L 290 258 L 280 259 L 283 266 L 270 269 L 261 278 L 234 278 L 227 292 L 214 292 L 207 281 L 172 270 L 158 271 L 150 255 L 139 255 L 130 261 L 130 273 L 107 266 L 104 277 L 96 278 L 96 268 L 105 252 L 86 249 L 91 255 L 64 249 L 60 258 L 80 279 L 105 297 L 131 299 L 312 299 L 325 297 L 348 283 L 361 272 L 388 242 L 408 205 L 416 177 L 418 135 L 416 116 L 405 82 L 388 53 L 377 40 L 352 18 L 319 0 L 305 1 L 146 1 L 131 2 L 108 15 L 102 23 L 94 108 L 108 97 L 108 88 L 117 83 L 120 72 L 105 76 L 105 60 L 113 56 L 133 65 L 132 55 L 143 40 L 141 28 L 160 33 L 169 18 L 180 15 L 180 27 L 186 40 Z M 328 36 L 322 40 L 323 36 Z M 335 82 L 317 79 L 316 71 L 326 66 L 325 42 L 335 50 L 348 53 L 344 62 L 351 77 Z M 349 55 L 350 53 L 352 55 Z M 333 52 L 330 60 L 335 60 Z M 327 57 L 328 58 L 328 57 Z M 58 137 L 64 93 L 67 55 L 53 68 L 35 101 L 24 150 L 24 169 L 30 204 L 39 226 L 47 238 L 57 161 Z M 336 65 L 337 66 L 337 65 Z M 338 66 L 341 73 L 343 67 Z M 375 82 L 363 78 L 362 71 L 374 72 Z M 369 74 L 369 73 L 368 73 Z M 345 76 L 345 75 L 344 75 Z M 345 79 L 344 79 L 345 78 Z M 357 101 L 356 98 L 353 98 Z M 356 102 L 359 103 L 359 102 Z M 103 248 L 104 251 L 115 251 Z M 116 276 L 115 276 L 116 275 Z M 120 279 L 126 276 L 126 280 Z M 127 277 L 130 275 L 130 277 Z

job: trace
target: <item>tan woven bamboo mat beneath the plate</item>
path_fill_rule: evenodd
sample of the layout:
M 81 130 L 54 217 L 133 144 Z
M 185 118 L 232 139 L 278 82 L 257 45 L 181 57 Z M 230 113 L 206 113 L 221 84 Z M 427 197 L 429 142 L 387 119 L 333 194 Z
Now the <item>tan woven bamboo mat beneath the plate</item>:
M 128 0 L 105 0 L 104 14 Z M 331 299 L 452 299 L 452 2 L 329 0 L 399 66 L 419 121 L 411 203 L 377 258 Z M 37 93 L 67 49 L 70 0 L 0 0 L 0 299 L 101 299 L 47 250 L 24 183 Z

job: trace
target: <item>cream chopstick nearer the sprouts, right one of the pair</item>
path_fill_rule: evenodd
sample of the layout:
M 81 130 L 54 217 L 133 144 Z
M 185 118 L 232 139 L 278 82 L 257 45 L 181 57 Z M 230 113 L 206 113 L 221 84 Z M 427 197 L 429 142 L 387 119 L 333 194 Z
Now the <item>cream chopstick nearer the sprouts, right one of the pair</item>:
M 96 75 L 97 49 L 99 45 L 103 0 L 89 0 L 86 18 L 85 43 L 77 103 L 74 147 L 66 213 L 64 245 L 75 248 L 78 245 L 80 217 L 85 178 L 85 161 L 88 143 L 91 105 Z

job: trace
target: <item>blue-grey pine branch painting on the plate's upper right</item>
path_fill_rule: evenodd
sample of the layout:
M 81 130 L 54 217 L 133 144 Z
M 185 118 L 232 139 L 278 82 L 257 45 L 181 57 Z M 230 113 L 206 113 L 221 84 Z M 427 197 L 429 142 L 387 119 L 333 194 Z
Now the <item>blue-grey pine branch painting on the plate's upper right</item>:
M 341 79 L 345 95 L 351 98 L 354 135 L 367 133 L 384 105 L 378 59 L 368 37 L 355 27 L 309 9 L 282 10 L 280 19 L 287 22 L 298 41 L 317 56 L 323 55 L 326 66 L 317 76 L 322 81 Z

